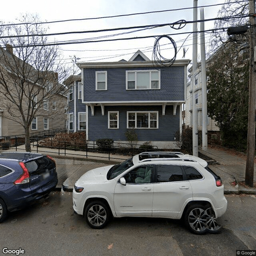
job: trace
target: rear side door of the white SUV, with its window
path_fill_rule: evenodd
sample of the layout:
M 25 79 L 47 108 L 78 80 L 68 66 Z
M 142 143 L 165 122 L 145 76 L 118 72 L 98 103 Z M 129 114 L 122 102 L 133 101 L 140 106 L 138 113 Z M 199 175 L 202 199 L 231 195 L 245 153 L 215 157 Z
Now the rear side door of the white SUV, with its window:
M 187 199 L 192 198 L 190 182 L 184 179 L 181 166 L 156 166 L 152 216 L 176 218 Z

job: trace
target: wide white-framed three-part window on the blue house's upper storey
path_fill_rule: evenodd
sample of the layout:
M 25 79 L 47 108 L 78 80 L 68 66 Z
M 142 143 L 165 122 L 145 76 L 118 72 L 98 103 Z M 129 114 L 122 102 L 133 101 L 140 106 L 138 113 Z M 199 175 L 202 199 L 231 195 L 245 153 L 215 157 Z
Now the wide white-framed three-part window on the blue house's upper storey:
M 160 71 L 126 71 L 126 90 L 160 89 Z

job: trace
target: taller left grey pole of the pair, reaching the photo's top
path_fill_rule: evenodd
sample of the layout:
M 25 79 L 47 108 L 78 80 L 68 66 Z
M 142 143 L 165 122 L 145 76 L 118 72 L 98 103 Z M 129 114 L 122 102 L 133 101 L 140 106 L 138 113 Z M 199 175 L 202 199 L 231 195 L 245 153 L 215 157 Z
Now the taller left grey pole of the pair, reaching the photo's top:
M 195 74 L 197 68 L 197 0 L 193 2 L 193 57 L 192 57 L 192 145 L 193 156 L 198 156 L 198 111 L 195 100 Z

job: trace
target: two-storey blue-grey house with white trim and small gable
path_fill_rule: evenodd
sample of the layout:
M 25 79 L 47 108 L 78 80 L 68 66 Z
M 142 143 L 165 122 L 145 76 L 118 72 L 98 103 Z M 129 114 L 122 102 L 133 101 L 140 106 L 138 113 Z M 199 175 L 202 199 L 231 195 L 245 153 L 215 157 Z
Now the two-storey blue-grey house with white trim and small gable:
M 177 148 L 182 127 L 189 60 L 154 68 L 140 50 L 128 61 L 79 62 L 68 93 L 68 130 L 86 131 L 86 138 L 112 138 L 124 143 L 125 132 L 138 134 L 138 144 Z

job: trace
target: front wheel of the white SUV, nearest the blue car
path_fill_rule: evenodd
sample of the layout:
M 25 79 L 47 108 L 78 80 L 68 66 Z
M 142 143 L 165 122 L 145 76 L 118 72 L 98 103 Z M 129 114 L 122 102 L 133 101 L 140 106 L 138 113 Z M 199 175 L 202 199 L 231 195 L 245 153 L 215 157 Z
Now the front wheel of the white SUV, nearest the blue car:
M 90 202 L 85 209 L 85 219 L 91 228 L 104 228 L 109 221 L 110 210 L 101 201 Z

